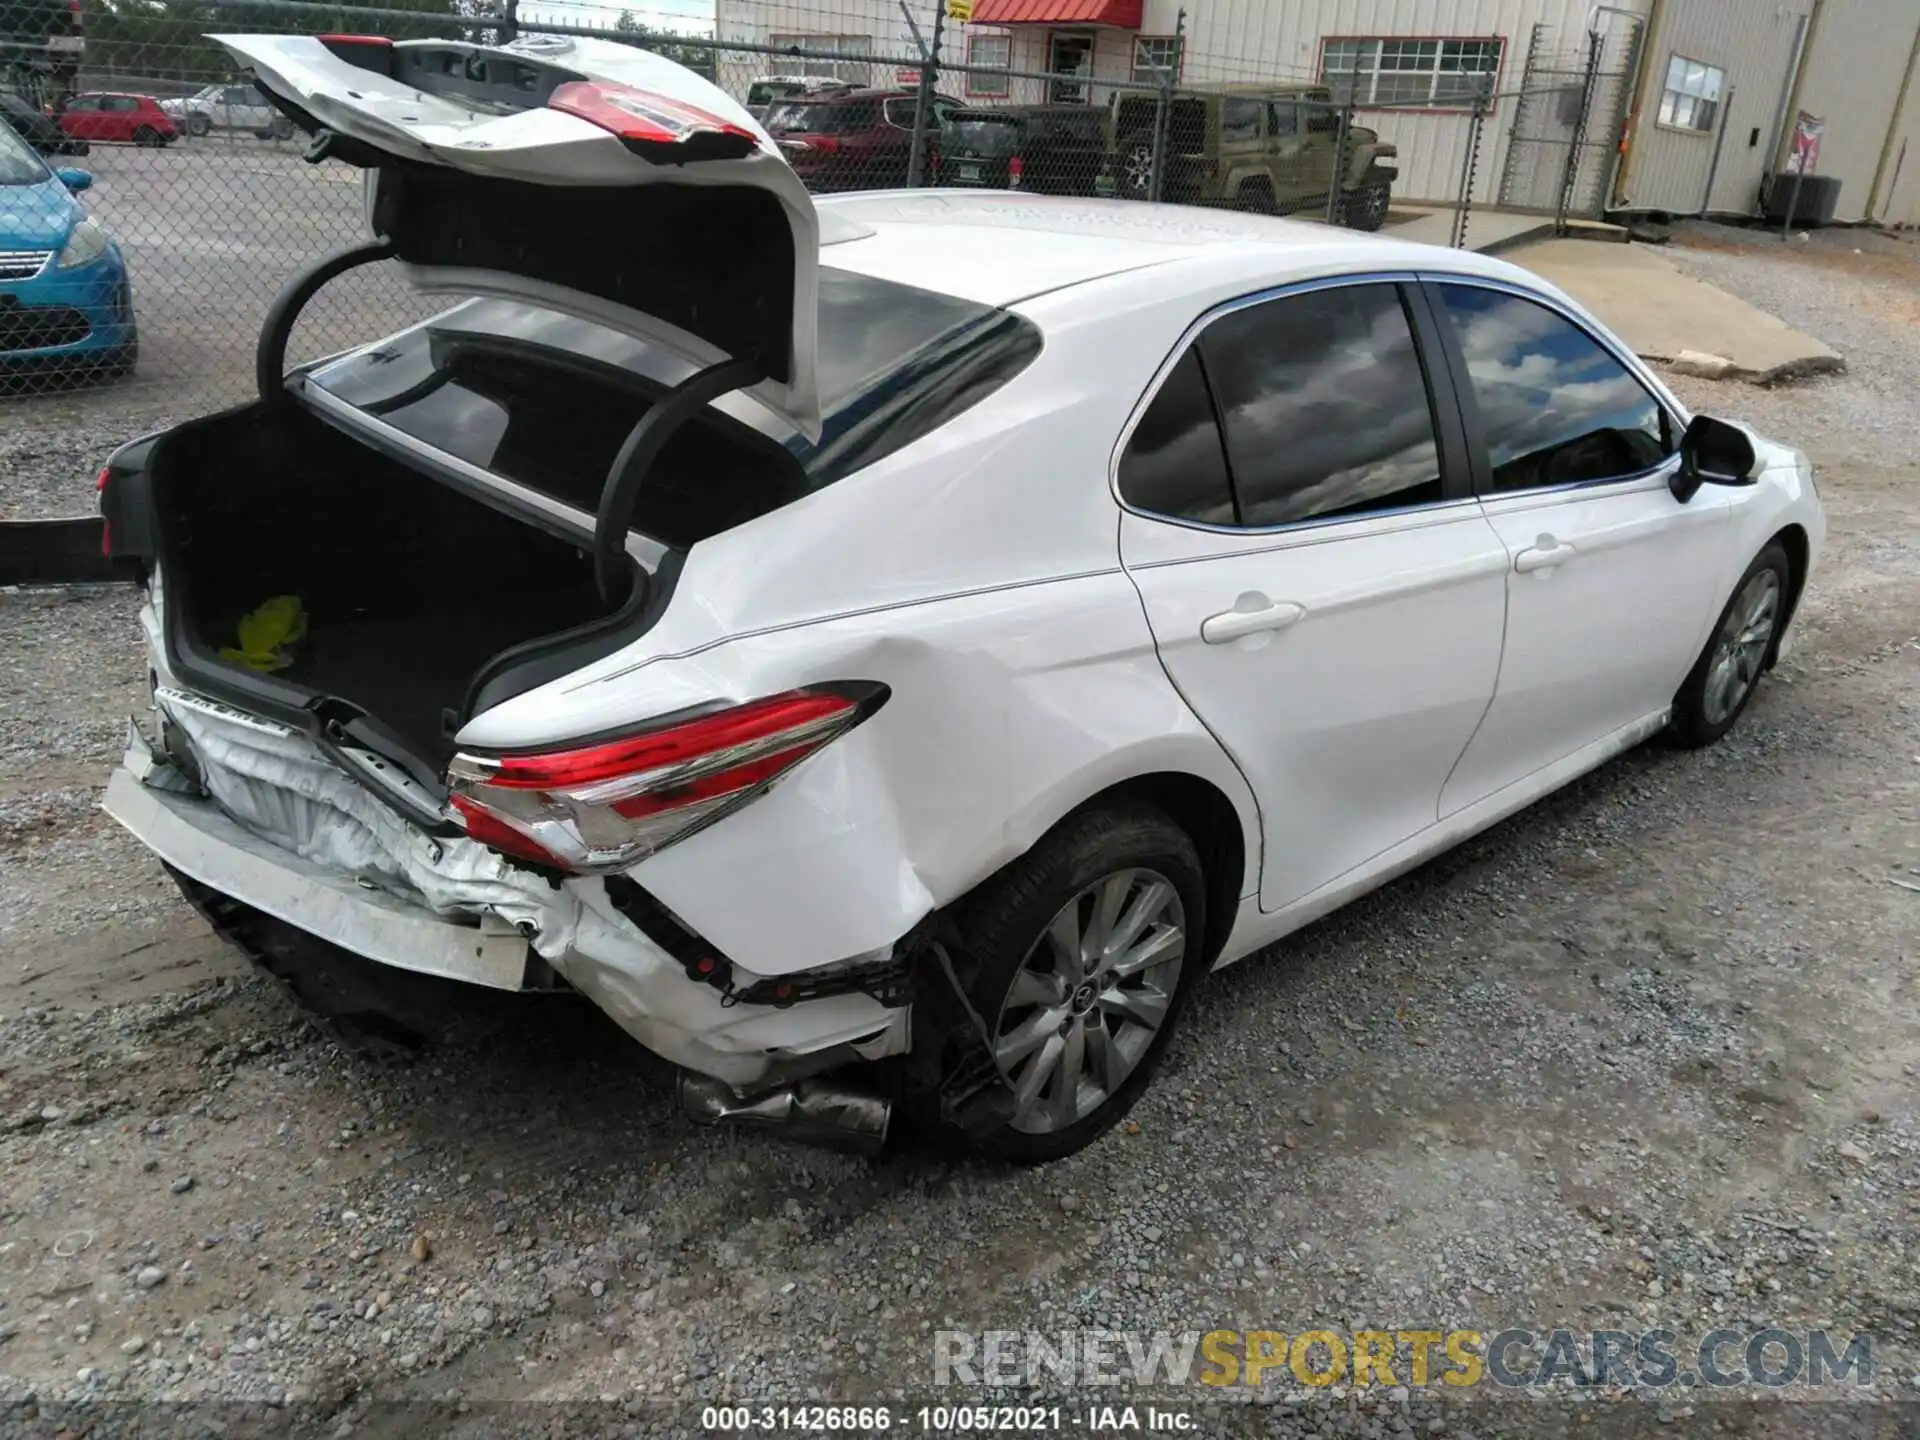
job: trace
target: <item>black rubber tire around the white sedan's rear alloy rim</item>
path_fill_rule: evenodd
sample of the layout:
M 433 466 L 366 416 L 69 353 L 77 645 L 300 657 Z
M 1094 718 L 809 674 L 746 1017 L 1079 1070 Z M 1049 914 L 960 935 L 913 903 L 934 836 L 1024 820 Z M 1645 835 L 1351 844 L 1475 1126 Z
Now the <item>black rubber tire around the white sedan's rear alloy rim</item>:
M 1106 804 L 1062 822 L 956 908 L 960 979 L 973 1008 L 998 1033 L 1014 979 L 1029 954 L 1044 945 L 1050 922 L 1100 879 L 1129 870 L 1165 877 L 1179 897 L 1185 954 L 1160 1029 L 1123 1081 L 1087 1116 L 1043 1133 L 1010 1121 L 977 1139 L 973 1146 L 979 1152 L 1027 1165 L 1060 1160 L 1092 1144 L 1133 1108 L 1206 970 L 1206 879 L 1192 839 L 1165 814 L 1139 803 Z M 1106 1023 L 1096 1010 L 1087 1033 Z

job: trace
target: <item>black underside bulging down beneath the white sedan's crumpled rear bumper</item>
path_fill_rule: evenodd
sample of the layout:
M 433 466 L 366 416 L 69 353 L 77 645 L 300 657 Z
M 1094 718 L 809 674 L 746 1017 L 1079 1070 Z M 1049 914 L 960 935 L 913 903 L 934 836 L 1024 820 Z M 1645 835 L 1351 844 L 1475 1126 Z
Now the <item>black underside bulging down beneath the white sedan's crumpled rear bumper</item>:
M 280 981 L 323 1033 L 365 1060 L 392 1064 L 474 1044 L 518 1010 L 520 996 L 509 991 L 365 960 L 171 866 L 167 874 L 215 935 Z

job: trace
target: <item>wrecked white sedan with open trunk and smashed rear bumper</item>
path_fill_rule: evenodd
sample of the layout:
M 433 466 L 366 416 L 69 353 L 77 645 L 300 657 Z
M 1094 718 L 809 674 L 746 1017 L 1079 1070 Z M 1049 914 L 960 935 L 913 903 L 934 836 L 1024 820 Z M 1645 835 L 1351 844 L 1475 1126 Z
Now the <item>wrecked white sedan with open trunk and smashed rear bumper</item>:
M 1494 257 L 816 204 L 611 42 L 223 44 L 374 165 L 342 267 L 486 296 L 282 374 L 301 276 L 102 474 L 106 806 L 363 1046 L 570 989 L 703 1119 L 1069 1154 L 1210 970 L 1724 735 L 1820 555 L 1805 455 Z

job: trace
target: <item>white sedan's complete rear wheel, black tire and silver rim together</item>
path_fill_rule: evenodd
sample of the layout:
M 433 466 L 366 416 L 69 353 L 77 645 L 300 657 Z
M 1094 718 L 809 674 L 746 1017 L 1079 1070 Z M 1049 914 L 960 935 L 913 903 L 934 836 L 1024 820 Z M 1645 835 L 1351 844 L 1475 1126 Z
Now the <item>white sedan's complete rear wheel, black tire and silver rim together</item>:
M 1192 839 L 1144 804 L 1087 810 L 956 916 L 962 979 L 1014 1116 L 977 1148 L 1020 1164 L 1085 1148 L 1146 1089 L 1206 970 Z

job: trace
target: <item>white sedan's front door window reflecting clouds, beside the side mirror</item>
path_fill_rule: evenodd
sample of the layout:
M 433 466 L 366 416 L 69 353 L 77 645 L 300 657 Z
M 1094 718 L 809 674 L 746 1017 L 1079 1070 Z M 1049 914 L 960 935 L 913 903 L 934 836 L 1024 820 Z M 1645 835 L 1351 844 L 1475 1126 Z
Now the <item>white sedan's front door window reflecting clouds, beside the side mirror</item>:
M 1580 326 L 1530 300 L 1440 286 L 1480 401 L 1494 490 L 1640 474 L 1672 453 L 1667 417 Z

